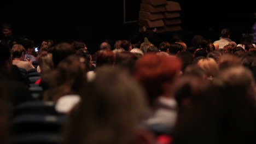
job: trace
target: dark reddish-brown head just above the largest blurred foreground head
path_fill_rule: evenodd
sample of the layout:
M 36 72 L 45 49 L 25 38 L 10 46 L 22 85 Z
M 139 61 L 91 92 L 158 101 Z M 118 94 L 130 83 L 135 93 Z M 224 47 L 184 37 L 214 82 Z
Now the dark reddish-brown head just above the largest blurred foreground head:
M 110 50 L 101 50 L 96 53 L 96 67 L 102 65 L 113 65 L 115 63 L 115 53 Z

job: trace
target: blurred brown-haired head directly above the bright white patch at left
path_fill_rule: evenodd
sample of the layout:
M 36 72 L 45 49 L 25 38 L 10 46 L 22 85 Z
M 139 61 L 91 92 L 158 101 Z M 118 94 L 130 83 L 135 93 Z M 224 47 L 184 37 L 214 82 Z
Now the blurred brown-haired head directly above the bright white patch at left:
M 86 65 L 84 58 L 77 55 L 65 57 L 55 70 L 42 75 L 47 88 L 44 100 L 56 102 L 63 95 L 79 94 L 86 81 Z

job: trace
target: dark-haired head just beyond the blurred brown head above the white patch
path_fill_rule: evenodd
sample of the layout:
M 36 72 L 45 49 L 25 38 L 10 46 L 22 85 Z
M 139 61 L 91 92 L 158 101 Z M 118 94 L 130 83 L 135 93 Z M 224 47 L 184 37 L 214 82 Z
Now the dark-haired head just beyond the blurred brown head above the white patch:
M 53 49 L 51 50 L 51 53 L 53 53 L 53 63 L 54 63 L 54 67 L 56 68 L 57 65 L 64 58 L 66 58 L 69 55 L 72 55 L 74 53 L 74 50 L 71 44 L 61 43 L 53 47 Z

